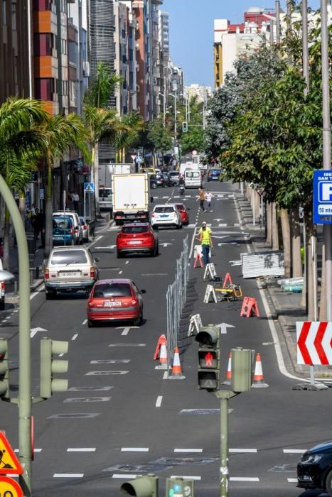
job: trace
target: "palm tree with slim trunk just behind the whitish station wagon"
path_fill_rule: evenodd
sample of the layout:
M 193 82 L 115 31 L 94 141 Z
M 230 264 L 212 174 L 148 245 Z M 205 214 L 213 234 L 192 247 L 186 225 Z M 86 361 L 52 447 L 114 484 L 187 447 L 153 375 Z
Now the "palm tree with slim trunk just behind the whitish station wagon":
M 45 137 L 45 163 L 47 168 L 47 189 L 45 206 L 45 255 L 52 249 L 52 169 L 55 160 L 63 157 L 70 147 L 77 147 L 90 159 L 87 148 L 89 134 L 82 119 L 76 114 L 48 116 L 41 129 Z

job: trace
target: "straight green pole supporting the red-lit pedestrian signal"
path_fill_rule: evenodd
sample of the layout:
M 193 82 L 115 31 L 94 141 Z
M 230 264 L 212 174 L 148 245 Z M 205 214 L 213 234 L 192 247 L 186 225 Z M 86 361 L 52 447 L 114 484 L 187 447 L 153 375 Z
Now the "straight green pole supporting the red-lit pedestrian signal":
M 228 390 L 213 392 L 220 398 L 220 497 L 228 496 L 228 400 L 239 393 Z

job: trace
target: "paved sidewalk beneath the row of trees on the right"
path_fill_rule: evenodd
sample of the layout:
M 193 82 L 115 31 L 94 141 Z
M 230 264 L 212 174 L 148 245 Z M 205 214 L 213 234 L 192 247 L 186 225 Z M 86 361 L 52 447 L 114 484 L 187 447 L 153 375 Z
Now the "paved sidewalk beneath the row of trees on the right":
M 265 242 L 264 230 L 253 224 L 253 215 L 250 202 L 240 193 L 235 195 L 240 217 L 245 224 L 245 229 L 250 232 L 250 243 L 254 252 L 272 250 L 271 246 Z M 277 280 L 272 276 L 257 278 L 259 288 L 262 288 L 269 305 L 269 317 L 277 324 L 277 331 L 281 338 L 281 345 L 284 342 L 284 362 L 289 373 L 295 376 L 309 378 L 309 366 L 297 364 L 296 351 L 296 321 L 306 321 L 308 316 L 306 308 L 301 305 L 301 293 L 289 293 L 282 290 Z M 283 347 L 282 347 L 283 348 Z M 332 366 L 315 366 L 316 378 L 323 375 L 332 378 Z

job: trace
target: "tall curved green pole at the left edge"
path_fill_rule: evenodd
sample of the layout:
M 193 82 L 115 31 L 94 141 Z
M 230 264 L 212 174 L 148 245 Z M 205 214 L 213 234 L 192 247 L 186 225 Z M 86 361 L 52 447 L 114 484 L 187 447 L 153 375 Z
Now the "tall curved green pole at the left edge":
M 31 497 L 31 344 L 30 344 L 30 270 L 28 244 L 21 214 L 14 197 L 0 175 L 0 195 L 4 199 L 11 220 L 18 249 L 18 284 L 20 310 L 18 317 L 19 376 L 18 376 L 18 447 L 23 474 L 19 483 L 25 497 Z M 13 399 L 14 400 L 14 399 Z

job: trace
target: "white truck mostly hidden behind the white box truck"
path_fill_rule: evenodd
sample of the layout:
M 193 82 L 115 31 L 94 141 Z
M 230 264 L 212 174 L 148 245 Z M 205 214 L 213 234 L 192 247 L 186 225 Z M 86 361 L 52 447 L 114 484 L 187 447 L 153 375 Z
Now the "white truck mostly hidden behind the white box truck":
M 100 164 L 99 165 L 99 204 L 101 210 L 112 211 L 112 175 L 131 174 L 135 172 L 134 164 Z

